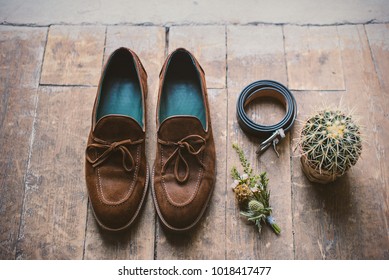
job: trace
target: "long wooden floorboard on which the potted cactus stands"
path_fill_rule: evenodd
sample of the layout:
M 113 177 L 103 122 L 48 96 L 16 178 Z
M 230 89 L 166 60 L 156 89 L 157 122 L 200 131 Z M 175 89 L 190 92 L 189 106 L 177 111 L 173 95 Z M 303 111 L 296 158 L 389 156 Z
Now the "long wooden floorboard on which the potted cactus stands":
M 317 110 L 339 108 L 345 92 L 306 91 L 296 95 L 300 121 L 292 135 L 297 138 L 304 121 Z M 313 184 L 301 169 L 299 152 L 292 158 L 292 212 L 296 259 L 354 259 L 361 240 L 350 174 L 329 185 Z M 356 167 L 354 167 L 356 168 Z

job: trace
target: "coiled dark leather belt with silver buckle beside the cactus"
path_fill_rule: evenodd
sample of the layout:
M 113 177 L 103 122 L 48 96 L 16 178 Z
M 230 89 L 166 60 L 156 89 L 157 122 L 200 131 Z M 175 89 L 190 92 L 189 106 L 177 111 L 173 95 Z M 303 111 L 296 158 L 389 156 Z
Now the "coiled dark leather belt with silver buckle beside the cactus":
M 245 108 L 259 98 L 272 98 L 281 102 L 286 109 L 284 118 L 274 125 L 261 125 L 253 122 L 247 116 Z M 240 93 L 236 115 L 243 131 L 261 139 L 267 138 L 259 145 L 257 154 L 262 153 L 273 144 L 273 148 L 279 156 L 276 145 L 282 138 L 285 138 L 285 132 L 292 128 L 297 116 L 297 104 L 292 93 L 284 85 L 271 80 L 261 80 L 249 84 Z

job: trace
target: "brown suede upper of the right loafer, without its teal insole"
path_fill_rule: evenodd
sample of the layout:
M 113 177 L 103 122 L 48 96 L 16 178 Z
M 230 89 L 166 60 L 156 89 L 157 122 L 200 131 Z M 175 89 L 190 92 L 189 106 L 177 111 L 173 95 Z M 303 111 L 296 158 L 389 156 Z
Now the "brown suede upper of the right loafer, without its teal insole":
M 159 108 L 161 98 L 165 98 L 161 97 L 165 74 L 170 60 L 179 52 L 191 57 L 200 76 L 206 128 L 196 116 L 191 115 L 170 116 L 160 123 Z M 190 52 L 177 49 L 166 59 L 160 74 L 157 149 L 152 181 L 154 204 L 167 229 L 187 231 L 198 224 L 214 189 L 215 164 L 215 144 L 204 71 Z M 178 179 L 185 178 L 186 173 L 187 179 L 180 182 Z

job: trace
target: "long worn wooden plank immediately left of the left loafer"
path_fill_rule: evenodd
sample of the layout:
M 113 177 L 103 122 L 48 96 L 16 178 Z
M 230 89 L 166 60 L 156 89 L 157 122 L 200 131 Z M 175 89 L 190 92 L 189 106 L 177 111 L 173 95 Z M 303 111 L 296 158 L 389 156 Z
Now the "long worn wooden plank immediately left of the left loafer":
M 88 196 L 84 151 L 95 88 L 41 87 L 18 259 L 81 259 Z

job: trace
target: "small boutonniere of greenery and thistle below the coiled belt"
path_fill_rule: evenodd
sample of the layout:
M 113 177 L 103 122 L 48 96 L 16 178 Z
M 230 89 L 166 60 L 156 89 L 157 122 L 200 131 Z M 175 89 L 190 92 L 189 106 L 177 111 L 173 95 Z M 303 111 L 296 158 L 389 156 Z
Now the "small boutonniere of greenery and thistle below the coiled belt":
M 231 169 L 231 176 L 234 179 L 232 190 L 242 210 L 241 215 L 253 222 L 258 227 L 259 232 L 261 232 L 262 224 L 268 224 L 276 234 L 280 234 L 281 229 L 271 215 L 270 191 L 267 189 L 269 179 L 266 172 L 254 175 L 243 150 L 237 144 L 233 144 L 232 147 L 239 155 L 244 172 L 240 174 L 235 166 Z

